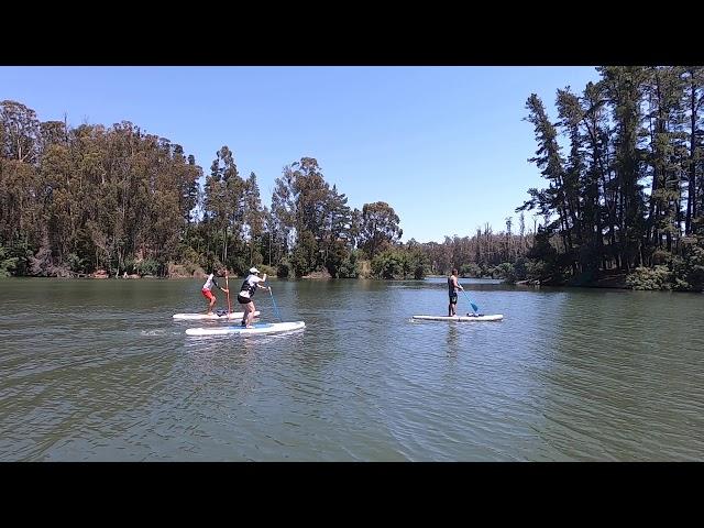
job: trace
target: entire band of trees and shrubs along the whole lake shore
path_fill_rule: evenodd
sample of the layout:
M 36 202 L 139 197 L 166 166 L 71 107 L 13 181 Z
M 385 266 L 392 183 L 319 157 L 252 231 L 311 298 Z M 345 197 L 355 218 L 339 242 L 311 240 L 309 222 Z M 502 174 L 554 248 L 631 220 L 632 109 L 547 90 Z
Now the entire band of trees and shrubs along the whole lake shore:
M 286 165 L 263 201 L 227 145 L 205 172 L 134 123 L 74 128 L 0 101 L 0 276 L 256 265 L 278 277 L 420 279 L 457 267 L 509 283 L 702 292 L 704 68 L 597 70 L 581 91 L 557 90 L 557 121 L 528 97 L 528 162 L 546 187 L 528 189 L 502 231 L 466 226 L 441 243 L 402 242 L 391 204 L 349 207 L 314 157 Z

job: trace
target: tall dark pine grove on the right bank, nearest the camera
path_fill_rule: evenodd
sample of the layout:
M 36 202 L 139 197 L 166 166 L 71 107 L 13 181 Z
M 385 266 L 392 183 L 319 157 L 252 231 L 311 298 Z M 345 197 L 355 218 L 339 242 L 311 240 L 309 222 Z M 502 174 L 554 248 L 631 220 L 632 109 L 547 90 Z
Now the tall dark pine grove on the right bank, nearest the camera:
M 581 92 L 557 90 L 552 122 L 535 94 L 536 164 L 547 187 L 516 211 L 543 221 L 534 278 L 639 289 L 704 288 L 704 68 L 605 66 Z M 564 146 L 564 147 L 563 147 Z

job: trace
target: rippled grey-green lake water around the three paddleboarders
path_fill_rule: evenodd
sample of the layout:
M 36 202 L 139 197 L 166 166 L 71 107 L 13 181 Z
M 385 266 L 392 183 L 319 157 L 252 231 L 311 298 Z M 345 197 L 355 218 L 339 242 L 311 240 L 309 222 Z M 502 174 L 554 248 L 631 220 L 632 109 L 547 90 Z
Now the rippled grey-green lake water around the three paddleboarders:
M 704 460 L 701 294 L 273 280 L 305 330 L 187 337 L 201 283 L 0 280 L 0 460 Z

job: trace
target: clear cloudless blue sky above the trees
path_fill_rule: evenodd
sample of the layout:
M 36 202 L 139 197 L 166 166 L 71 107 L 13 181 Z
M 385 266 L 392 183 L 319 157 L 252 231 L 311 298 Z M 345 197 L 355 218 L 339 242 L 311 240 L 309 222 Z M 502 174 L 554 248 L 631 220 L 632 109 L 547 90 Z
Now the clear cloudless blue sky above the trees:
M 132 121 L 194 154 L 209 173 L 228 145 L 271 206 L 284 165 L 310 156 L 351 207 L 386 201 L 404 241 L 441 242 L 504 219 L 542 187 L 532 127 L 538 94 L 581 91 L 593 67 L 0 67 L 0 100 L 42 121 Z M 526 218 L 532 228 L 532 218 Z

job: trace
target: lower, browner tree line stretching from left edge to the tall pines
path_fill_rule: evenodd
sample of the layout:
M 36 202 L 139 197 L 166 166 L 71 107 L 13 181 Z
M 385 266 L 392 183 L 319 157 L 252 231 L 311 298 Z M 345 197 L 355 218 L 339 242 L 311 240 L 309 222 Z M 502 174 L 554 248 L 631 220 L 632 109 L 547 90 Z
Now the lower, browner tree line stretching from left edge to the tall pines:
M 503 276 L 532 244 L 524 231 L 521 215 L 519 233 L 507 219 L 506 232 L 486 224 L 443 243 L 403 243 L 391 205 L 351 208 L 312 157 L 284 167 L 267 207 L 256 174 L 241 175 L 228 146 L 206 174 L 182 145 L 131 122 L 74 128 L 0 102 L 0 276 L 244 274 L 252 265 L 283 277 L 421 278 L 455 266 Z

